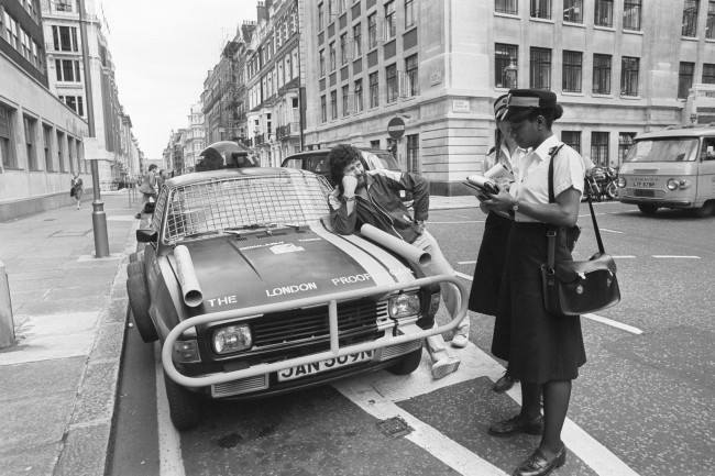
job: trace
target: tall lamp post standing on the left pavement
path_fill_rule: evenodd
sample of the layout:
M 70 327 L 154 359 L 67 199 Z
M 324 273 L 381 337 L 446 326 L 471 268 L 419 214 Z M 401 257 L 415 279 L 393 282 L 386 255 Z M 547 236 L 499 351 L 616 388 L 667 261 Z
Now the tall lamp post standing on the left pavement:
M 81 40 L 82 66 L 85 68 L 85 93 L 87 96 L 87 126 L 89 137 L 96 137 L 95 132 L 95 107 L 91 88 L 91 70 L 89 67 L 89 45 L 87 44 L 87 20 L 85 11 L 85 0 L 78 0 L 79 10 L 79 35 Z M 85 157 L 87 159 L 87 157 Z M 107 214 L 105 213 L 105 202 L 101 201 L 99 193 L 99 166 L 97 158 L 89 158 L 92 174 L 92 232 L 95 234 L 95 257 L 102 258 L 109 256 L 109 240 L 107 237 Z

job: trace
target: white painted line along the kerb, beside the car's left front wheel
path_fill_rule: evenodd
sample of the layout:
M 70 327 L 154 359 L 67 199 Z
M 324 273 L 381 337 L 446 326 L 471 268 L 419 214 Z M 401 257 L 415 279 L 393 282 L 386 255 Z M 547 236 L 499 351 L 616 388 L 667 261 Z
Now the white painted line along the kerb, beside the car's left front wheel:
M 158 432 L 158 467 L 160 476 L 186 476 L 184 460 L 182 460 L 182 439 L 172 424 L 168 412 L 168 400 L 164 387 L 164 367 L 162 367 L 162 344 L 154 344 L 154 361 L 156 365 L 156 422 Z

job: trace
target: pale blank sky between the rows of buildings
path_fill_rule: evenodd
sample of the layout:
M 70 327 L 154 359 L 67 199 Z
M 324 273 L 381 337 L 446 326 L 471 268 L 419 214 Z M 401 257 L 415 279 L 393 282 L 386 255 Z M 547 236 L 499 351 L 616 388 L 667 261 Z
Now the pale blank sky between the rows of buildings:
M 256 0 L 102 0 L 119 101 L 144 156 L 162 157 L 186 128 L 207 73 Z M 101 15 L 101 12 L 100 12 Z

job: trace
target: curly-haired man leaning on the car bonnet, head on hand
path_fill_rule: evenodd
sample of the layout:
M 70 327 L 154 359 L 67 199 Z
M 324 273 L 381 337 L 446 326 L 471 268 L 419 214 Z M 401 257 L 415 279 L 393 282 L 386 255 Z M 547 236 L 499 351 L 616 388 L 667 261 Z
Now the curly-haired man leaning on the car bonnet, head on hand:
M 329 201 L 331 223 L 338 233 L 351 234 L 362 224 L 370 223 L 428 252 L 431 262 L 424 268 L 426 275 L 454 275 L 439 244 L 425 229 L 429 211 L 427 180 L 415 174 L 389 170 L 366 174 L 360 151 L 346 144 L 333 147 L 328 160 L 331 178 L 337 184 Z M 414 214 L 403 203 L 399 190 L 413 193 Z M 442 284 L 441 294 L 447 310 L 454 316 L 460 305 L 458 289 Z M 469 318 L 462 320 L 457 332 L 469 335 Z M 441 335 L 428 337 L 427 350 L 432 361 L 433 378 L 442 378 L 458 369 L 460 359 L 448 351 Z

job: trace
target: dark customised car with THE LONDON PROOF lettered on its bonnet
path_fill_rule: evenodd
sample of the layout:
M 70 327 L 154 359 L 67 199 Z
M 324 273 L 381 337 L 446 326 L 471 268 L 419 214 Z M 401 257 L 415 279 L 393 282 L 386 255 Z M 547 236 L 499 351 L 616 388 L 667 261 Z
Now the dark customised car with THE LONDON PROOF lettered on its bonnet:
M 202 171 L 165 182 L 129 302 L 145 342 L 163 342 L 170 417 L 200 420 L 201 397 L 257 398 L 387 368 L 409 374 L 439 307 L 411 245 L 366 226 L 329 229 L 323 177 L 288 168 Z

